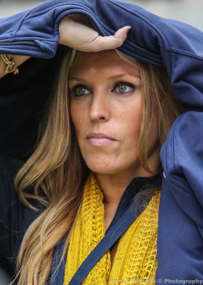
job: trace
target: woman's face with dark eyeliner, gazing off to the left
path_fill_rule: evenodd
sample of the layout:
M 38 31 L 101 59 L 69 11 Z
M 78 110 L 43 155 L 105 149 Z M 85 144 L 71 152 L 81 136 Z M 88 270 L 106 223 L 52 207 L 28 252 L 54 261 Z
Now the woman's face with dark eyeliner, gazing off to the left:
M 69 88 L 72 123 L 89 169 L 146 175 L 138 160 L 143 106 L 139 69 L 114 50 L 77 52 Z M 157 134 L 151 137 L 153 145 Z

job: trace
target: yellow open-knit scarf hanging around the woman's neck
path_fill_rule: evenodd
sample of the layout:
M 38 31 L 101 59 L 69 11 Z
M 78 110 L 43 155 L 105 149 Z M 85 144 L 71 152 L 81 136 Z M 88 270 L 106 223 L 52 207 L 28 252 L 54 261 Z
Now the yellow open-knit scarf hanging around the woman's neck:
M 75 222 L 65 266 L 64 285 L 105 235 L 103 195 L 91 174 L 84 188 L 82 210 Z M 106 252 L 89 272 L 82 284 L 146 284 L 155 283 L 157 269 L 157 232 L 160 191 L 119 240 L 114 263 Z

